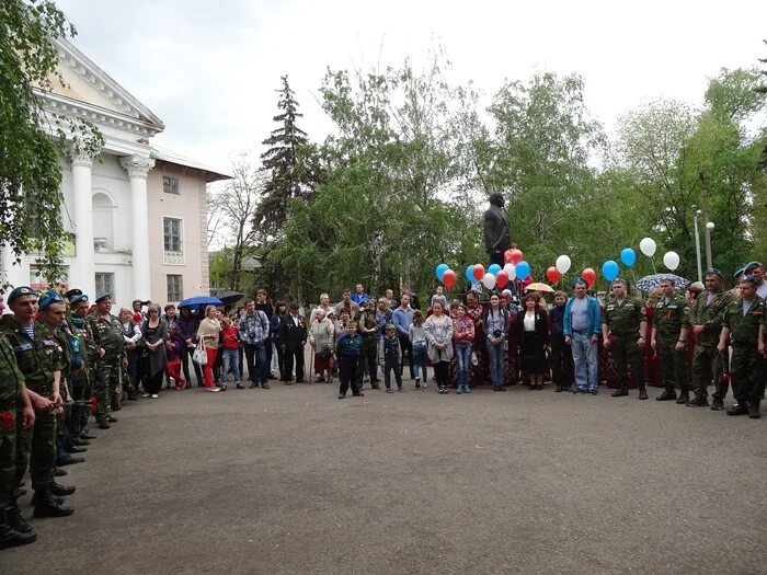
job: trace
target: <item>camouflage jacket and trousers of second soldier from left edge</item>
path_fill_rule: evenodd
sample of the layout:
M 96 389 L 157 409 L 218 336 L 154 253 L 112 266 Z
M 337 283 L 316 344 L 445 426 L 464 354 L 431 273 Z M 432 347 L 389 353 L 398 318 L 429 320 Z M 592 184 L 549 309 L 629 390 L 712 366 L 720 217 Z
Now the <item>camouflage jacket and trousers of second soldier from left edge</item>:
M 12 317 L 3 322 L 2 333 L 13 346 L 26 388 L 44 398 L 50 396 L 54 372 L 66 368 L 64 349 L 56 334 L 42 322 L 35 322 L 34 338 L 30 338 Z M 54 483 L 56 462 L 56 414 L 35 410 L 34 428 L 22 430 L 18 440 L 20 464 L 16 467 L 16 485 L 21 483 L 28 461 L 32 487 L 35 491 L 49 487 Z

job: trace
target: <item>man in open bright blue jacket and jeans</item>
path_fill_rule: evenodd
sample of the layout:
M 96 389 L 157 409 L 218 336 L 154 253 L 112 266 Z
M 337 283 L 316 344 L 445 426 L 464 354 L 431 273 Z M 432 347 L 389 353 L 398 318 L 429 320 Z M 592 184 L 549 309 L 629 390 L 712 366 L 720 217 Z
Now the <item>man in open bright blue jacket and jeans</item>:
M 564 343 L 573 348 L 575 389 L 573 393 L 596 395 L 597 344 L 602 331 L 599 302 L 586 294 L 588 284 L 582 277 L 573 281 L 575 296 L 564 304 Z

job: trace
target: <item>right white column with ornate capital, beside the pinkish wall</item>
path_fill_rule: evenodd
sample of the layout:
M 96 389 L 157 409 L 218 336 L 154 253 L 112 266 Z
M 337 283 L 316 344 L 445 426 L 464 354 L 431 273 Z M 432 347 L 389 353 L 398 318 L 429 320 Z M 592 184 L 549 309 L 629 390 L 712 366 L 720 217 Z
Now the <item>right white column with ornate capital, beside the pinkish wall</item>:
M 147 174 L 154 160 L 144 156 L 126 156 L 119 164 L 130 176 L 130 228 L 133 229 L 133 287 L 130 299 L 149 299 L 151 292 L 149 268 L 149 205 Z

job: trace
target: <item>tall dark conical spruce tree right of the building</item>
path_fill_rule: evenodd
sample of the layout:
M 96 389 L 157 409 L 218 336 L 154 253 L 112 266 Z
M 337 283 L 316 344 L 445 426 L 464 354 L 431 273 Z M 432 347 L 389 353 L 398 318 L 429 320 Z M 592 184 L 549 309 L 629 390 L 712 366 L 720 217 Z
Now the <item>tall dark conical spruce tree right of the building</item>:
M 282 112 L 274 116 L 274 122 L 281 126 L 262 142 L 270 146 L 261 154 L 268 180 L 253 216 L 253 227 L 262 235 L 282 234 L 290 200 L 308 200 L 321 173 L 306 133 L 296 125 L 302 114 L 298 113 L 298 102 L 288 84 L 288 77 L 283 76 L 282 80 L 283 88 L 277 91 L 277 107 Z

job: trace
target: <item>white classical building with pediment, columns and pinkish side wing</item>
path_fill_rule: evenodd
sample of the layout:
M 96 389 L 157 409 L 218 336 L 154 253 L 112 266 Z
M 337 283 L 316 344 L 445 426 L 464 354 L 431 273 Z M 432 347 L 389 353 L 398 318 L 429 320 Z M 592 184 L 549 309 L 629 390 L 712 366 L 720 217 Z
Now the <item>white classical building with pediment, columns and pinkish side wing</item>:
M 102 133 L 95 158 L 62 163 L 62 218 L 71 233 L 66 283 L 94 299 L 111 291 L 134 299 L 178 302 L 208 292 L 206 187 L 229 179 L 151 143 L 165 126 L 152 112 L 71 43 L 57 43 L 66 87 L 43 94 L 46 110 L 88 118 Z M 8 245 L 2 280 L 44 287 L 35 256 L 21 265 Z

